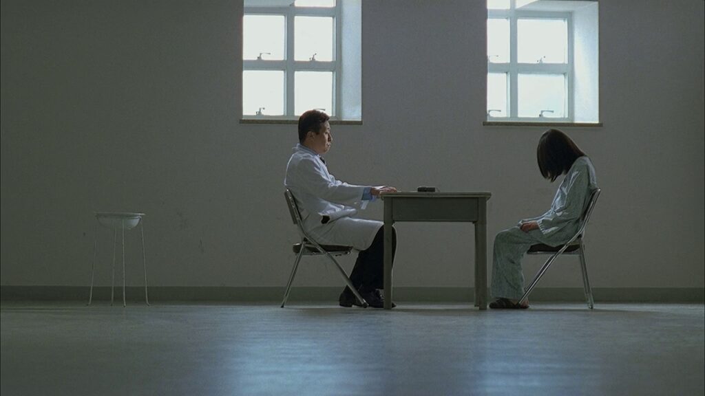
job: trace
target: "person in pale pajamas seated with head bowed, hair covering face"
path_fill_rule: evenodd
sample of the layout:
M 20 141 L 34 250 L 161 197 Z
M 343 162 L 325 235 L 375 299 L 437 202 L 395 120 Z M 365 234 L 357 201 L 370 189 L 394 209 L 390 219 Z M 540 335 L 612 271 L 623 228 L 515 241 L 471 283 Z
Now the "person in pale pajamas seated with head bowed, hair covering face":
M 551 209 L 534 218 L 525 218 L 515 227 L 503 230 L 494 239 L 491 294 L 493 309 L 529 307 L 518 304 L 524 294 L 521 260 L 536 244 L 560 246 L 580 228 L 580 217 L 597 188 L 595 170 L 590 159 L 560 130 L 547 130 L 537 147 L 539 170 L 544 178 L 556 180 L 565 174 Z

